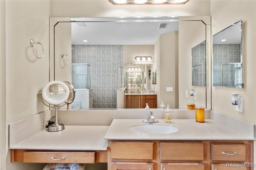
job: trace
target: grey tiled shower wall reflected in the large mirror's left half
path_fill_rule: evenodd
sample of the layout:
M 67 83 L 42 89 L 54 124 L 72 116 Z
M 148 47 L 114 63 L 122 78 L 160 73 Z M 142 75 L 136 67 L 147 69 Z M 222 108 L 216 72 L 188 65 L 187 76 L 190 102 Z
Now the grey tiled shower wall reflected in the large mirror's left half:
M 123 45 L 72 45 L 72 63 L 91 66 L 93 108 L 116 108 L 119 65 L 124 67 Z

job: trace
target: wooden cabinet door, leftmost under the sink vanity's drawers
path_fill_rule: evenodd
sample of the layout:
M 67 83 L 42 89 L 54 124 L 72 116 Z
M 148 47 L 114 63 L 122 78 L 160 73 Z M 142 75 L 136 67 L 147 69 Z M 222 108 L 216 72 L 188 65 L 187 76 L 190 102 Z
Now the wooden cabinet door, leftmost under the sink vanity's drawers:
M 111 162 L 111 170 L 154 170 L 152 162 Z

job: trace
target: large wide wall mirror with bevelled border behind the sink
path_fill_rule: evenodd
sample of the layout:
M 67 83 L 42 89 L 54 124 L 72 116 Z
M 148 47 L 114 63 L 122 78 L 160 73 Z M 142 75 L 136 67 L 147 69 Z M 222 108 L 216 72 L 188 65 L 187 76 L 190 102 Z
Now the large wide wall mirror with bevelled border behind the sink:
M 144 87 L 156 91 L 157 103 L 164 101 L 171 108 L 186 108 L 187 103 L 209 108 L 207 71 L 198 89 L 192 85 L 191 76 L 192 48 L 210 40 L 209 18 L 50 18 L 50 80 L 72 82 L 72 65 L 88 64 L 90 108 L 115 109 L 116 91 L 124 88 L 126 81 L 133 83 L 129 90 Z M 69 63 L 61 53 L 66 54 Z M 139 61 L 136 56 L 152 59 Z M 204 57 L 207 63 L 208 56 Z M 139 76 L 130 73 L 129 80 L 129 65 L 144 71 Z M 173 87 L 173 91 L 166 91 L 166 87 Z M 185 96 L 191 88 L 198 94 L 195 101 Z

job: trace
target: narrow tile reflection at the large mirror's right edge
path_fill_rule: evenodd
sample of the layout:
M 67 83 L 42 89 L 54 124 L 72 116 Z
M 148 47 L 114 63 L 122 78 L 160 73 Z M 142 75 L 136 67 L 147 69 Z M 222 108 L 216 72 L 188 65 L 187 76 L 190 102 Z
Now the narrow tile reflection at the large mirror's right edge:
M 205 43 L 192 48 L 192 86 L 205 86 Z

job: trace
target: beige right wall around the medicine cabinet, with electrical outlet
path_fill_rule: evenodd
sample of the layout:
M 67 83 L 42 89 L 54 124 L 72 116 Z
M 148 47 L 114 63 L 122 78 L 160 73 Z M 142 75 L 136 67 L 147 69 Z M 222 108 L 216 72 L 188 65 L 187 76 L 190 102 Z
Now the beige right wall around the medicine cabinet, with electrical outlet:
M 256 123 L 256 1 L 211 1 L 212 35 L 237 22 L 243 20 L 244 27 L 244 88 L 212 87 L 212 110 L 240 120 Z M 239 12 L 238 12 L 239 11 Z M 231 104 L 231 93 L 238 93 L 244 98 L 244 113 L 236 112 Z

